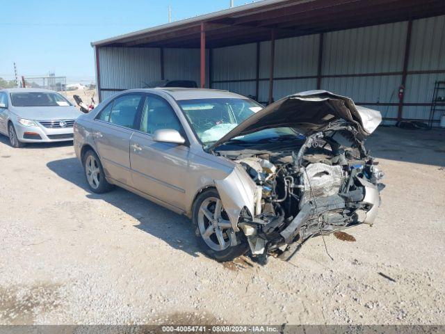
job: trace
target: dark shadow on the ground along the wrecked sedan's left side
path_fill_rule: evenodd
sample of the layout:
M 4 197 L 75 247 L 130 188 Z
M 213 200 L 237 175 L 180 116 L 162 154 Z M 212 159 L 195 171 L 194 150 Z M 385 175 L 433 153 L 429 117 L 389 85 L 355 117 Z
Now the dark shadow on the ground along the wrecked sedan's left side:
M 109 193 L 91 193 L 81 164 L 76 158 L 51 161 L 47 167 L 59 177 L 87 191 L 88 198 L 104 200 L 135 218 L 139 223 L 135 227 L 139 230 L 152 234 L 173 248 L 183 250 L 194 257 L 201 254 L 195 243 L 193 226 L 187 217 L 175 214 L 119 187 Z

